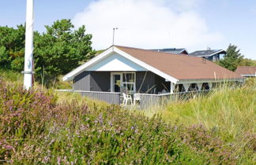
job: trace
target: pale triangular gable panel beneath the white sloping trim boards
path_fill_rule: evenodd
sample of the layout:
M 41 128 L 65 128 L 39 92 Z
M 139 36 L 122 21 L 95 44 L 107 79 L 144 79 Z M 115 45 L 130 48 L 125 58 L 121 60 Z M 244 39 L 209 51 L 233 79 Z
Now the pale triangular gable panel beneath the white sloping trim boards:
M 118 53 L 111 54 L 91 67 L 86 71 L 147 71 L 140 65 L 135 64 L 133 61 L 128 60 L 126 57 L 120 56 Z

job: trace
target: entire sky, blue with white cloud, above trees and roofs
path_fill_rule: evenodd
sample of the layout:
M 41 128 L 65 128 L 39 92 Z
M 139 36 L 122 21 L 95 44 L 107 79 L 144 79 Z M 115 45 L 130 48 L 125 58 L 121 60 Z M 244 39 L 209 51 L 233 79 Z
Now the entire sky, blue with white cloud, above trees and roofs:
M 16 27 L 25 21 L 25 0 L 0 1 L 0 25 Z M 35 0 L 35 29 L 44 31 L 59 19 L 85 24 L 93 47 L 115 44 L 146 49 L 185 47 L 226 49 L 239 46 L 256 60 L 256 1 L 254 0 Z

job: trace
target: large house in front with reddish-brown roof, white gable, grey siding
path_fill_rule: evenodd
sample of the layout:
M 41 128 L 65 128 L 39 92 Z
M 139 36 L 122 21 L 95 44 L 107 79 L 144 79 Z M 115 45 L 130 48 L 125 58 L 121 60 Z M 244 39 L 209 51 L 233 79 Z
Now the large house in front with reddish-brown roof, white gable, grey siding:
M 115 104 L 122 92 L 173 94 L 210 90 L 215 83 L 243 79 L 201 57 L 125 46 L 111 46 L 63 77 L 73 81 L 73 90 Z

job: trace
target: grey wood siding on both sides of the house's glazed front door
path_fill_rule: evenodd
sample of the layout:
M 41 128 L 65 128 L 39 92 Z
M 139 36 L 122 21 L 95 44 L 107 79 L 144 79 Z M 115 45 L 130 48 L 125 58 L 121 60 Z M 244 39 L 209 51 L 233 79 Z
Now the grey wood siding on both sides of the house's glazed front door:
M 74 90 L 111 91 L 111 72 L 81 72 L 73 79 Z M 170 82 L 152 72 L 136 72 L 136 91 L 141 94 L 158 94 L 170 90 Z

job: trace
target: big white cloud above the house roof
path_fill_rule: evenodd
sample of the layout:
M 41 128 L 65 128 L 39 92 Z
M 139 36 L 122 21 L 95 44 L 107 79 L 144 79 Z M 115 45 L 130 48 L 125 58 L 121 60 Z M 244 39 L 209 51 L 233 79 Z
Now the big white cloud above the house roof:
M 220 41 L 223 36 L 209 32 L 205 20 L 193 11 L 198 1 L 100 0 L 77 13 L 73 23 L 85 24 L 95 49 L 111 46 L 113 27 L 119 27 L 115 45 L 122 46 L 190 48 Z

